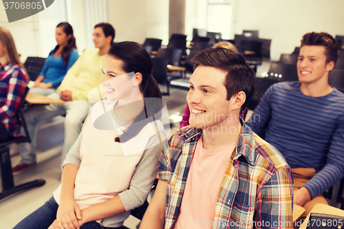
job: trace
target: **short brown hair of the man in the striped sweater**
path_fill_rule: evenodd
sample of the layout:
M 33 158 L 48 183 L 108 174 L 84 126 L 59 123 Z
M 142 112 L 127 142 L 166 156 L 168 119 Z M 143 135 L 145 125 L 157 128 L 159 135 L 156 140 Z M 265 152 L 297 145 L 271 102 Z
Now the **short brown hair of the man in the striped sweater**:
M 316 45 L 325 47 L 326 64 L 336 63 L 339 56 L 338 41 L 327 32 L 309 32 L 302 36 L 301 47 L 304 45 Z

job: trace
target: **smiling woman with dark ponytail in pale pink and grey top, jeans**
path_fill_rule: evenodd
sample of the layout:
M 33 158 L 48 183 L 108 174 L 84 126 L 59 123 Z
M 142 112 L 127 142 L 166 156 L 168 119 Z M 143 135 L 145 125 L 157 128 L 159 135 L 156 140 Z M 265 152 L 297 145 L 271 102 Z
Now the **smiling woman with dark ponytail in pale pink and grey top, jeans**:
M 119 228 L 144 203 L 166 140 L 152 68 L 138 43 L 110 48 L 100 85 L 107 99 L 92 107 L 53 197 L 14 228 Z

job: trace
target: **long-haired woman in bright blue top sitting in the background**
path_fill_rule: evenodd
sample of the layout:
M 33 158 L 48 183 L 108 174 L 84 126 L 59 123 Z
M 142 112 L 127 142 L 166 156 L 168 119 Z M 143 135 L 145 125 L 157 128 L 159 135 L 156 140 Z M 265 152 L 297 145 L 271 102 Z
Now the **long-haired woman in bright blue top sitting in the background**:
M 45 60 L 44 67 L 39 77 L 34 80 L 30 93 L 44 96 L 54 93 L 69 68 L 79 57 L 72 25 L 67 22 L 59 23 L 56 26 L 55 39 L 57 45 Z

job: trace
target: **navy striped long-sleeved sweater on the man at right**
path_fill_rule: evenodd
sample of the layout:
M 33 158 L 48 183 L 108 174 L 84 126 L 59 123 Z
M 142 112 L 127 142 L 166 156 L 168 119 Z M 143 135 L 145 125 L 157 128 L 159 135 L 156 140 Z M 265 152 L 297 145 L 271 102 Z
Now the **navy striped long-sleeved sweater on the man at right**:
M 305 184 L 312 198 L 344 175 L 344 94 L 310 97 L 300 82 L 272 85 L 248 121 L 255 133 L 266 125 L 265 140 L 286 157 L 291 168 L 314 168 Z

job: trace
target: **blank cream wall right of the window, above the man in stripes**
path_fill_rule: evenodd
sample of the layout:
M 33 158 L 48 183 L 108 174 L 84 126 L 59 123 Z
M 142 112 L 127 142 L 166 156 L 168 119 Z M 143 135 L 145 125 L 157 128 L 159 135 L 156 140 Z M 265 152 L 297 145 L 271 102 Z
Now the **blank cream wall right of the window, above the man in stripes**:
M 235 33 L 259 30 L 272 39 L 271 58 L 291 53 L 307 32 L 344 35 L 343 0 L 235 0 Z

